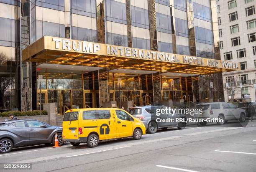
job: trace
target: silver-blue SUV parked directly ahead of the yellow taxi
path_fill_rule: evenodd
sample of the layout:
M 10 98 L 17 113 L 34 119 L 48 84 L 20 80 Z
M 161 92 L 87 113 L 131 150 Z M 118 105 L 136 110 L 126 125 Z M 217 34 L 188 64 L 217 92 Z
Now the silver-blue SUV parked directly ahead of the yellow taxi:
M 156 133 L 157 129 L 167 129 L 168 127 L 177 126 L 178 129 L 184 129 L 186 123 L 175 122 L 176 118 L 186 119 L 185 114 L 164 113 L 156 116 L 156 109 L 166 109 L 163 105 L 135 106 L 128 109 L 128 112 L 137 119 L 140 119 L 146 127 L 148 133 Z M 169 108 L 169 107 L 167 107 Z M 174 119 L 174 122 L 157 122 L 156 119 Z

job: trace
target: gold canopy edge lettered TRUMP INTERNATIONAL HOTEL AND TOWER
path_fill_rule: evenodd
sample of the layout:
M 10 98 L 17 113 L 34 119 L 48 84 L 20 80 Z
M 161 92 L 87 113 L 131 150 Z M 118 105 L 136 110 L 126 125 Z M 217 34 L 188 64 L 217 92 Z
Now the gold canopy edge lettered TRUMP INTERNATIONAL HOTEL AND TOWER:
M 44 39 L 44 40 L 41 40 L 41 39 Z M 215 59 L 200 58 L 200 57 L 194 57 L 194 56 L 184 56 L 179 54 L 163 53 L 163 52 L 143 50 L 138 48 L 112 46 L 112 45 L 101 44 L 101 43 L 91 43 L 91 42 L 85 42 L 85 41 L 79 41 L 79 40 L 55 38 L 50 36 L 44 36 L 41 39 L 39 39 L 37 42 L 39 43 L 41 42 L 41 44 L 44 44 L 44 45 L 40 45 L 38 43 L 37 45 L 33 46 L 32 44 L 30 46 L 31 47 L 30 49 L 28 50 L 25 49 L 23 51 L 23 61 L 27 60 L 28 58 L 31 58 L 31 56 L 34 55 L 33 53 L 46 49 L 51 51 L 55 50 L 55 51 L 65 51 L 65 52 L 74 52 L 74 53 L 95 54 L 100 56 L 116 56 L 116 57 L 123 57 L 123 58 L 133 58 L 133 59 L 169 62 L 169 63 L 180 63 L 180 64 L 187 64 L 187 65 L 207 66 L 207 67 L 224 68 L 224 69 L 231 69 L 231 70 L 240 69 L 240 66 L 238 65 L 238 63 L 220 61 Z

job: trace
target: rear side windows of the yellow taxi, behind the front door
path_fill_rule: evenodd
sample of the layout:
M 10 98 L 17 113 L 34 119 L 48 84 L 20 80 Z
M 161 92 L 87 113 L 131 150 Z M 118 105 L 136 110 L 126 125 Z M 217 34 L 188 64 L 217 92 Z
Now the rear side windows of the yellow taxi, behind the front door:
M 83 119 L 110 119 L 109 110 L 83 111 Z

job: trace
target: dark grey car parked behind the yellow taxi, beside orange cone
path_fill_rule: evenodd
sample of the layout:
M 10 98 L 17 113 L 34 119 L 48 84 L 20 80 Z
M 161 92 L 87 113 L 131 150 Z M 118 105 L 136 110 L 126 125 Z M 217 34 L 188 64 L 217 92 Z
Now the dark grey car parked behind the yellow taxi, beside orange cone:
M 15 147 L 54 144 L 55 133 L 62 145 L 62 127 L 35 119 L 0 121 L 0 153 L 8 153 Z

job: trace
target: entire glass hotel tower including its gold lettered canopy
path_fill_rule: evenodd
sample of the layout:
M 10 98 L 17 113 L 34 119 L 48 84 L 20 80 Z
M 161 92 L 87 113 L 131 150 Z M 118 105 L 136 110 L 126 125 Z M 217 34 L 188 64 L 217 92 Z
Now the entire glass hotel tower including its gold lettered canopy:
M 217 9 L 216 0 L 1 0 L 0 110 L 223 101 L 221 72 L 240 67 L 220 61 Z

